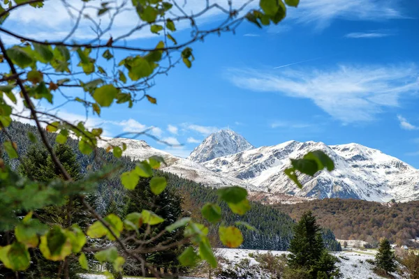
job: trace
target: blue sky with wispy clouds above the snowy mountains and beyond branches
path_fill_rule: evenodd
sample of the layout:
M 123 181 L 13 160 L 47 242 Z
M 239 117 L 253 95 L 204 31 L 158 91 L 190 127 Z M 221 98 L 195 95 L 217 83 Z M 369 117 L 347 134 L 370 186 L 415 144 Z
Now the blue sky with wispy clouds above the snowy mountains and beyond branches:
M 60 13 L 48 11 L 51 17 Z M 179 156 L 229 127 L 254 146 L 357 142 L 419 167 L 418 15 L 416 0 L 301 0 L 277 27 L 245 22 L 235 35 L 192 45 L 191 69 L 179 65 L 156 78 L 149 94 L 158 105 L 112 105 L 89 121 L 109 136 L 155 126 L 154 135 L 184 146 L 147 142 Z M 23 32 L 34 33 L 31 16 L 20 20 Z M 64 23 L 45 22 L 45 30 L 59 36 Z M 126 22 L 118 24 L 124 29 Z M 130 43 L 155 41 L 138 36 Z M 78 119 L 83 109 L 62 107 L 59 113 Z

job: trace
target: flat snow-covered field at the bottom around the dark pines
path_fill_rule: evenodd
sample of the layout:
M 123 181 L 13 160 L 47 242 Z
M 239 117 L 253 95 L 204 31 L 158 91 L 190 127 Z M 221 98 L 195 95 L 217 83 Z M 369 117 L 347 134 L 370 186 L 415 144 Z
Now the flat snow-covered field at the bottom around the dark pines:
M 228 259 L 230 262 L 240 262 L 241 259 L 249 259 L 251 264 L 257 264 L 256 260 L 250 255 L 264 254 L 268 252 L 267 250 L 247 250 L 247 249 L 228 249 L 221 248 L 216 249 L 216 255 Z M 270 251 L 273 255 L 287 255 L 289 252 L 285 251 Z M 366 262 L 367 259 L 374 259 L 373 251 L 344 251 L 344 252 L 335 252 L 333 253 L 341 261 L 337 265 L 340 268 L 341 273 L 343 274 L 342 279 L 381 279 L 383 277 L 377 276 L 373 271 L 372 264 Z M 397 279 L 403 279 L 406 277 L 398 276 L 393 274 Z M 105 279 L 105 276 L 96 275 L 96 274 L 84 274 L 82 276 L 84 279 Z M 125 279 L 134 279 L 133 277 L 124 277 Z M 138 277 L 136 277 L 138 278 Z

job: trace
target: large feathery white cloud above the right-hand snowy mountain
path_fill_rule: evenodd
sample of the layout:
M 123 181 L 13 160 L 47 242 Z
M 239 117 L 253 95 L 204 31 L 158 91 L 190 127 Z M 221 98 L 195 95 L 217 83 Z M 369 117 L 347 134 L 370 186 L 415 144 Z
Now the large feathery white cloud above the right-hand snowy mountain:
M 383 108 L 397 107 L 399 98 L 419 89 L 414 64 L 284 69 L 279 73 L 230 69 L 226 76 L 240 88 L 311 99 L 344 123 L 370 121 Z

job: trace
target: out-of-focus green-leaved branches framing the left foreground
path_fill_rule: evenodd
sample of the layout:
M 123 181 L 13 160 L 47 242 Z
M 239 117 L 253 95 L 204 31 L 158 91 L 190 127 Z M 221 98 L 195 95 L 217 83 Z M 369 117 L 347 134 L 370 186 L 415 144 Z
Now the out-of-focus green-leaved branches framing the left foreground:
M 298 0 L 263 0 L 256 8 L 249 7 L 249 2 L 243 3 L 239 8 L 225 9 L 220 5 L 207 5 L 198 12 L 189 15 L 176 1 L 111 1 L 101 2 L 91 0 L 82 1 L 61 1 L 68 10 L 68 13 L 78 15 L 74 20 L 74 26 L 69 33 L 61 40 L 45 38 L 27 38 L 17 31 L 0 27 L 0 32 L 17 39 L 15 45 L 5 45 L 3 36 L 0 38 L 1 61 L 7 65 L 7 69 L 1 73 L 1 96 L 0 96 L 0 128 L 1 133 L 6 137 L 3 140 L 3 152 L 0 160 L 0 220 L 1 229 L 14 231 L 19 226 L 26 229 L 17 229 L 17 239 L 8 239 L 6 246 L 0 248 L 0 260 L 3 265 L 13 271 L 23 271 L 30 266 L 31 252 L 39 249 L 42 256 L 52 262 L 62 262 L 58 277 L 69 278 L 68 259 L 79 259 L 82 267 L 86 267 L 86 261 L 82 252 L 94 253 L 98 262 L 106 262 L 112 266 L 117 276 L 122 276 L 122 269 L 126 258 L 135 259 L 141 266 L 143 273 L 145 269 L 152 271 L 154 276 L 159 273 L 154 266 L 147 262 L 142 255 L 149 252 L 170 250 L 174 247 L 182 247 L 182 244 L 190 241 L 198 250 L 201 259 L 205 259 L 213 268 L 217 265 L 216 259 L 208 239 L 209 229 L 207 226 L 197 223 L 195 220 L 175 223 L 184 227 L 182 240 L 167 244 L 154 242 L 153 233 L 156 228 L 165 223 L 165 219 L 158 213 L 142 209 L 135 212 L 124 212 L 124 208 L 118 209 L 115 199 L 112 200 L 110 208 L 105 216 L 105 209 L 96 209 L 86 199 L 86 195 L 94 193 L 97 186 L 106 183 L 106 179 L 117 180 L 126 190 L 135 190 L 140 179 L 149 178 L 148 186 L 152 195 L 161 195 L 166 190 L 167 181 L 161 176 L 156 176 L 153 169 L 158 169 L 163 158 L 149 158 L 140 162 L 128 165 L 111 165 L 106 167 L 100 163 L 87 168 L 87 175 L 83 179 L 78 177 L 80 173 L 74 163 L 74 156 L 68 149 L 52 147 L 51 137 L 57 144 L 66 144 L 70 138 L 76 138 L 75 143 L 81 154 L 86 156 L 97 156 L 98 140 L 103 140 L 103 130 L 97 127 L 89 127 L 85 121 L 73 123 L 71 119 L 61 118 L 57 110 L 45 110 L 42 105 L 50 107 L 61 107 L 68 103 L 80 105 L 86 110 L 86 115 L 96 114 L 101 116 L 102 111 L 110 105 L 125 104 L 129 108 L 140 100 L 148 100 L 156 104 L 157 100 L 147 93 L 154 77 L 166 74 L 177 63 L 183 62 L 186 67 L 191 68 L 195 59 L 191 43 L 196 40 L 204 40 L 205 36 L 212 33 L 235 31 L 241 22 L 247 20 L 258 27 L 262 25 L 278 24 L 286 16 L 286 6 L 296 7 Z M 70 3 L 71 2 L 71 3 Z M 75 2 L 78 2 L 76 5 Z M 88 3 L 87 3 L 88 2 Z M 10 15 L 19 12 L 22 6 L 32 6 L 43 9 L 43 6 L 50 2 L 43 0 L 14 0 L 5 1 L 0 7 L 0 25 Z M 225 15 L 225 20 L 218 27 L 203 29 L 199 24 L 198 17 L 214 10 L 220 10 Z M 112 23 L 117 15 L 125 10 L 133 10 L 138 15 L 138 24 L 118 38 L 112 38 Z M 36 13 L 34 11 L 34 13 Z M 38 11 L 41 15 L 41 13 Z M 107 27 L 101 25 L 103 17 L 110 18 Z M 91 22 L 92 29 L 96 32 L 96 38 L 86 42 L 77 40 L 73 35 L 77 33 L 80 19 L 87 19 Z M 191 38 L 184 39 L 175 33 L 182 22 L 189 24 Z M 200 28 L 201 27 L 201 28 Z M 126 38 L 129 38 L 137 31 L 149 30 L 155 34 L 158 43 L 154 47 L 141 45 L 126 45 Z M 45 32 L 48 35 L 48 32 Z M 108 38 L 105 38 L 108 37 Z M 175 59 L 175 55 L 177 59 Z M 71 93 L 68 90 L 71 89 Z M 18 92 L 18 93 L 15 93 Z M 57 103 L 57 96 L 64 98 L 64 103 Z M 58 98 L 59 100 L 59 98 Z M 23 111 L 13 110 L 14 104 L 23 104 Z M 8 133 L 8 127 L 12 117 L 24 119 L 34 123 L 37 134 L 25 135 L 29 140 L 37 140 L 45 147 L 47 153 L 42 149 L 29 151 L 30 160 L 24 161 L 21 172 L 27 175 L 22 178 L 15 172 L 22 153 L 21 147 L 16 144 L 16 139 Z M 45 127 L 45 130 L 43 129 Z M 52 136 L 48 133 L 53 134 Z M 136 134 L 149 135 L 147 131 L 136 132 Z M 121 158 L 125 144 L 121 146 L 108 146 L 106 151 L 112 151 L 115 158 Z M 45 160 L 46 159 L 46 160 Z M 43 160 L 46 164 L 41 164 Z M 66 164 L 66 160 L 69 162 Z M 28 169 L 26 169 L 28 167 Z M 295 171 L 304 174 L 314 175 L 317 170 L 326 167 L 332 169 L 332 163 L 328 156 L 321 152 L 311 152 L 302 159 L 293 160 L 293 176 L 297 182 Z M 41 169 L 41 171 L 37 171 Z M 91 172 L 89 172 L 91 169 Z M 119 170 L 123 169 L 120 174 Z M 115 173 L 117 178 L 115 179 Z M 52 180 L 51 180 L 52 178 Z M 98 182 L 99 185 L 98 185 Z M 26 197 L 31 197 L 27 199 Z M 124 194 L 121 195 L 122 199 Z M 227 204 L 233 213 L 243 215 L 249 210 L 247 201 L 247 190 L 237 186 L 230 186 L 219 190 L 219 202 Z M 80 205 L 89 212 L 93 219 L 92 224 L 87 228 L 71 225 L 70 217 L 64 218 L 64 222 L 53 221 L 48 229 L 37 230 L 37 221 L 42 221 L 38 216 L 32 216 L 32 212 L 45 211 L 45 216 L 51 216 L 52 212 L 46 211 L 47 206 L 64 206 L 66 216 L 71 215 L 73 200 L 80 201 Z M 112 208 L 113 206 L 113 208 Z M 57 207 L 55 207 L 57 208 Z M 204 214 L 214 223 L 214 212 L 219 210 L 216 206 Z M 102 212 L 101 212 L 102 211 Z M 108 211 L 109 208 L 108 208 Z M 27 216 L 20 220 L 17 218 L 22 213 Z M 209 214 L 208 214 L 209 213 Z M 61 215 L 61 213 L 59 213 Z M 162 234 L 172 232 L 174 223 L 170 227 L 161 230 Z M 130 250 L 126 245 L 129 239 L 135 239 L 138 232 L 143 232 L 144 239 L 150 237 L 149 243 L 153 247 L 140 246 L 138 249 Z M 221 242 L 227 246 L 240 246 L 242 233 L 230 225 L 225 229 L 219 226 Z M 235 239 L 230 239 L 229 233 L 233 232 Z M 96 239 L 98 243 L 108 243 L 107 246 L 90 249 L 85 246 L 85 234 L 89 239 Z M 240 237 L 241 236 L 241 237 Z M 38 241 L 39 239 L 39 241 Z M 128 240 L 127 240 L 128 239 Z M 145 240 L 146 241 L 146 240 Z M 191 249 L 188 250 L 191 252 Z M 195 250 L 193 250 L 195 252 Z M 61 272 L 62 271 L 62 272 Z M 62 276 L 61 276 L 62 275 Z

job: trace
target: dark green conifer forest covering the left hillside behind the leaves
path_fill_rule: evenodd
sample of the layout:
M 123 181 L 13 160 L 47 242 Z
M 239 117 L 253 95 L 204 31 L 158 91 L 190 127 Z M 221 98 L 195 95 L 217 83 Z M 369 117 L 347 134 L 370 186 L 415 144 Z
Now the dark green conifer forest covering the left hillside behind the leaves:
M 29 146 L 34 145 L 26 136 L 29 132 L 36 135 L 34 126 L 20 122 L 13 122 L 8 128 L 8 133 L 17 139 L 17 146 L 20 156 L 25 156 L 29 150 Z M 48 133 L 50 141 L 54 142 L 56 134 Z M 5 140 L 3 133 L 0 133 L 0 144 Z M 78 142 L 69 139 L 67 144 L 76 154 L 77 160 L 81 165 L 82 174 L 86 174 L 91 170 L 100 169 L 105 164 L 110 164 L 115 167 L 119 166 L 119 173 L 125 172 L 134 166 L 134 162 L 126 157 L 115 158 L 112 153 L 107 153 L 105 149 L 97 149 L 96 156 L 91 154 L 86 156 L 78 150 Z M 19 161 L 17 159 L 8 160 L 5 162 L 13 168 L 17 168 Z M 184 211 L 190 212 L 193 218 L 205 223 L 206 221 L 200 214 L 200 207 L 207 202 L 216 202 L 218 196 L 216 189 L 206 187 L 183 179 L 175 174 L 157 171 L 159 175 L 166 176 L 168 181 L 168 188 L 175 188 L 176 192 L 182 196 L 182 206 Z M 96 209 L 100 213 L 117 212 L 123 213 L 124 204 L 126 203 L 126 189 L 122 186 L 118 175 L 112 176 L 105 181 L 98 183 L 98 193 L 96 195 Z M 223 209 L 222 220 L 228 225 L 233 225 L 237 221 L 249 223 L 256 229 L 248 229 L 241 226 L 244 242 L 242 248 L 260 249 L 260 250 L 287 250 L 291 239 L 293 238 L 293 226 L 295 222 L 286 213 L 282 213 L 278 209 L 270 206 L 265 206 L 256 202 L 251 202 L 251 209 L 244 216 L 238 216 L 231 213 L 227 204 L 221 203 Z M 209 224 L 207 224 L 209 225 Z M 216 236 L 216 227 L 213 227 L 210 235 L 213 236 L 213 244 L 221 246 Z M 330 250 L 341 250 L 339 243 L 335 241 L 334 234 L 325 227 L 323 229 L 323 239 L 325 245 Z

